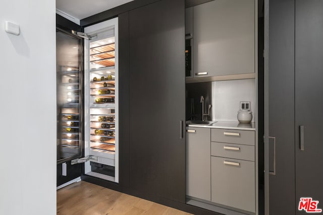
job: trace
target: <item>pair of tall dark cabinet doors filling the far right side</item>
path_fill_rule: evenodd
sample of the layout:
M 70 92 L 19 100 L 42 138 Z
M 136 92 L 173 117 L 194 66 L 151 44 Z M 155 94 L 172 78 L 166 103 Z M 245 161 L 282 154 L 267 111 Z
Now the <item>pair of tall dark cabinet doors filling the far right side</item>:
M 268 6 L 267 212 L 306 214 L 300 197 L 323 202 L 323 2 Z

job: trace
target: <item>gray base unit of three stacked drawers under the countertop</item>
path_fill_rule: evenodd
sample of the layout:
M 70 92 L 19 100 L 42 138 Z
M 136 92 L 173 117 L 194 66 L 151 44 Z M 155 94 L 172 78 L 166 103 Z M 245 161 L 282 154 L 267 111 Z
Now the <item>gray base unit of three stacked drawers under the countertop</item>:
M 255 212 L 255 132 L 211 129 L 211 201 Z

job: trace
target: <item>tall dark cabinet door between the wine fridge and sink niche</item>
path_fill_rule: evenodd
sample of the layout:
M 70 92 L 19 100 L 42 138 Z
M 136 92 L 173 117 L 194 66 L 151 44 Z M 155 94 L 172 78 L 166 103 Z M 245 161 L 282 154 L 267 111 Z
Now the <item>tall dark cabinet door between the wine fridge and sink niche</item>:
M 129 12 L 130 186 L 179 202 L 185 202 L 184 11 L 184 0 L 163 0 Z

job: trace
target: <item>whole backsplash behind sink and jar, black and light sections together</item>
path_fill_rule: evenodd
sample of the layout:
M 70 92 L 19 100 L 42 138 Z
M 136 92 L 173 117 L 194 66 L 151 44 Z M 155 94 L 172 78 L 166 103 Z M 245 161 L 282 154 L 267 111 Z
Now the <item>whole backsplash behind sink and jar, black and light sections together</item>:
M 200 97 L 204 97 L 205 107 L 212 105 L 211 121 L 238 121 L 237 114 L 240 101 L 250 101 L 252 122 L 255 110 L 255 83 L 254 79 L 216 81 L 186 84 L 186 120 L 201 120 L 202 105 Z M 192 108 L 192 101 L 194 108 Z M 206 109 L 205 109 L 206 111 Z M 192 114 L 192 112 L 194 112 Z

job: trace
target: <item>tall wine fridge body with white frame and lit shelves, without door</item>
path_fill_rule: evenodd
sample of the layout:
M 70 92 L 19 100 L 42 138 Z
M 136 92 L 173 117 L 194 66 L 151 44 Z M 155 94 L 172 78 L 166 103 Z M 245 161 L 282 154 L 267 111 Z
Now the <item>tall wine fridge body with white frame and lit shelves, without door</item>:
M 118 18 L 84 29 L 85 174 L 119 180 Z

